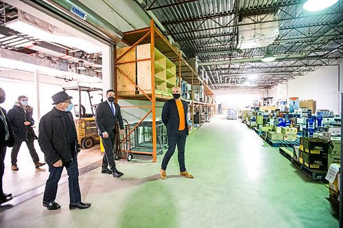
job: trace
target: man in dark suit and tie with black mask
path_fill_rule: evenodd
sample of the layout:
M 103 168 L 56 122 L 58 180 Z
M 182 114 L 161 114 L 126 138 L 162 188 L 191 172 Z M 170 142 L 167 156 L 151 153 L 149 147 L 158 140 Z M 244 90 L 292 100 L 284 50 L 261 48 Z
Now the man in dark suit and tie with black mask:
M 113 177 L 121 177 L 123 173 L 117 170 L 113 151 L 115 148 L 115 126 L 119 123 L 120 133 L 124 133 L 123 118 L 121 117 L 120 107 L 115 103 L 115 91 L 107 90 L 107 101 L 99 103 L 95 110 L 95 123 L 99 129 L 99 136 L 102 137 L 105 153 L 102 160 L 102 173 L 112 174 Z M 107 166 L 110 166 L 108 169 Z

